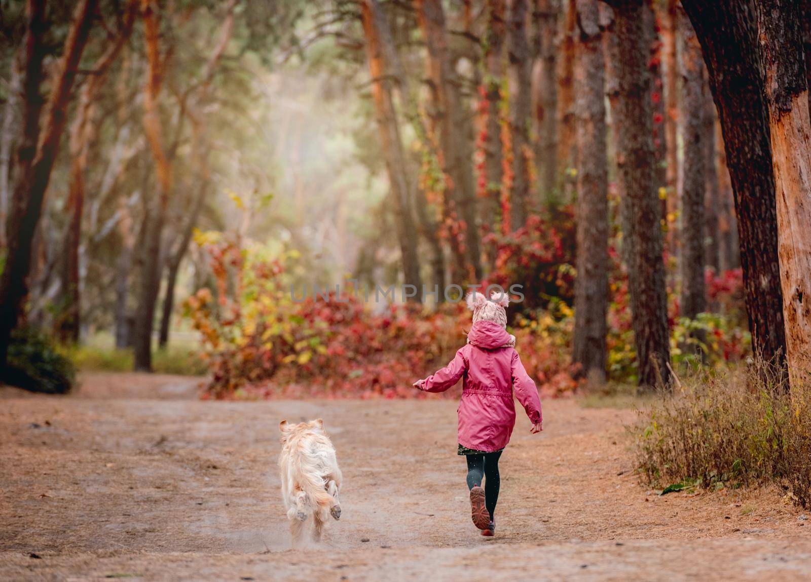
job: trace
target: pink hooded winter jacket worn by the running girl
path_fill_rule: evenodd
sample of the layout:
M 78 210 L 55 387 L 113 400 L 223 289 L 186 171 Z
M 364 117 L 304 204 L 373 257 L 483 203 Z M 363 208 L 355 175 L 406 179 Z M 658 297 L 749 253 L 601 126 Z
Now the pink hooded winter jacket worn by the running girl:
M 515 426 L 515 396 L 533 424 L 541 422 L 538 389 L 514 348 L 510 336 L 493 321 L 478 321 L 468 344 L 453 362 L 419 383 L 425 392 L 444 392 L 464 378 L 459 417 L 459 444 L 475 451 L 499 451 L 507 446 Z

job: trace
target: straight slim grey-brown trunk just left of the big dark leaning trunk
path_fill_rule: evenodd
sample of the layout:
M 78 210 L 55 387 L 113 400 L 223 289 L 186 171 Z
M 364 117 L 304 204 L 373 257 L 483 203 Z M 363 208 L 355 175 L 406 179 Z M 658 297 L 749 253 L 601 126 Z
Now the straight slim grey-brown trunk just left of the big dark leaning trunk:
M 706 309 L 704 291 L 704 190 L 706 132 L 702 47 L 693 25 L 680 13 L 681 99 L 684 165 L 681 177 L 681 315 L 695 319 Z

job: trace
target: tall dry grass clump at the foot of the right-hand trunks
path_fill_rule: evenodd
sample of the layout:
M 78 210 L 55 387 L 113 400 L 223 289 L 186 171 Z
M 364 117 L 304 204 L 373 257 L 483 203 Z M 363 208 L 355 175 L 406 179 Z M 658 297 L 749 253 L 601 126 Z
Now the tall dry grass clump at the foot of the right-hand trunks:
M 638 466 L 654 486 L 774 481 L 811 507 L 811 387 L 787 392 L 764 362 L 695 374 L 640 413 Z

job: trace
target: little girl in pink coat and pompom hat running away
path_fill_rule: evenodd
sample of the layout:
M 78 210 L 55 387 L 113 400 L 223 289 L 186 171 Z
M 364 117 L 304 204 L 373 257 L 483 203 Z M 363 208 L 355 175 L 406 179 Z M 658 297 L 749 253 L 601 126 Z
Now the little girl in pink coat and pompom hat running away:
M 448 366 L 414 383 L 425 392 L 444 392 L 464 378 L 457 410 L 457 454 L 467 459 L 470 512 L 483 536 L 496 533 L 493 513 L 499 498 L 499 457 L 515 426 L 513 388 L 532 422 L 530 432 L 542 430 L 538 389 L 515 351 L 515 337 L 506 332 L 504 307 L 508 302 L 505 293 L 494 292 L 489 300 L 482 293 L 469 293 L 467 306 L 473 310 L 473 327 L 466 346 Z

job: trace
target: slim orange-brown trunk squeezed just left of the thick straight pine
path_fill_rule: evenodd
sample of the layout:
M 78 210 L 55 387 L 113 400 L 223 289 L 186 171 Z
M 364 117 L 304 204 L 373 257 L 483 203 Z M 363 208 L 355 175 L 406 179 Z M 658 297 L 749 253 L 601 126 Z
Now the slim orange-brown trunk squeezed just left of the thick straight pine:
M 570 169 L 577 167 L 574 126 L 574 51 L 575 28 L 577 28 L 576 0 L 568 0 L 564 18 L 563 42 L 560 50 L 558 66 L 558 169 L 559 176 L 564 176 L 566 199 L 569 200 L 569 190 L 572 185 Z

